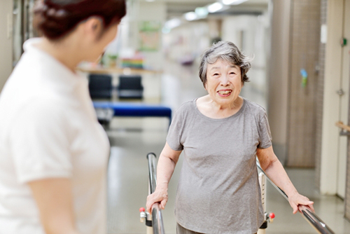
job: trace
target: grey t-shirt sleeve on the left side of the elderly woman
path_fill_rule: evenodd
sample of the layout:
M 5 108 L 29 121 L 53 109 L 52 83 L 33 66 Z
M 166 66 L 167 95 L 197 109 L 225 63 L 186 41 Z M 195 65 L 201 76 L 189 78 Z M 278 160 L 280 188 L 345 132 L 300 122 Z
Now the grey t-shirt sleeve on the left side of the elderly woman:
M 181 106 L 182 107 L 182 106 Z M 167 135 L 167 144 L 174 151 L 182 151 L 183 144 L 181 144 L 181 135 L 183 132 L 183 111 L 182 108 L 179 108 L 174 114 L 172 124 L 169 127 L 169 132 Z

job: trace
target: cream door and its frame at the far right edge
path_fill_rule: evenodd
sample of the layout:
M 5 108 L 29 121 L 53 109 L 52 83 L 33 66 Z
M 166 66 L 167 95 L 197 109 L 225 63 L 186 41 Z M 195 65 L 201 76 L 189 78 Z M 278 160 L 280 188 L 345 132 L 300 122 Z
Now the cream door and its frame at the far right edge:
M 347 137 L 337 121 L 349 123 L 350 2 L 328 1 L 321 150 L 321 193 L 345 197 Z M 342 43 L 343 42 L 343 43 Z

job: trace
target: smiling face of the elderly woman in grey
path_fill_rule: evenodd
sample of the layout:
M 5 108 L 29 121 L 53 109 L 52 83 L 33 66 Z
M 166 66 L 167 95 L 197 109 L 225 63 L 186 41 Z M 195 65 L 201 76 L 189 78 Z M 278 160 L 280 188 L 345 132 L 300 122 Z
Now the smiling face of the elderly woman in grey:
M 232 106 L 243 86 L 241 69 L 226 60 L 218 59 L 214 64 L 208 64 L 207 83 L 204 86 L 216 104 Z

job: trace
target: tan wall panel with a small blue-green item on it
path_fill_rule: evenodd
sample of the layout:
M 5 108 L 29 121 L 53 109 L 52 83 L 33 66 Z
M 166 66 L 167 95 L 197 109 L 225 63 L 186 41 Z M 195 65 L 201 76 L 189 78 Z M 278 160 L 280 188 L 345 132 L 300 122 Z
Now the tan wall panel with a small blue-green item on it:
M 293 0 L 290 6 L 290 62 L 288 77 L 288 153 L 286 165 L 314 167 L 316 91 L 321 1 Z M 307 71 L 302 85 L 300 71 Z

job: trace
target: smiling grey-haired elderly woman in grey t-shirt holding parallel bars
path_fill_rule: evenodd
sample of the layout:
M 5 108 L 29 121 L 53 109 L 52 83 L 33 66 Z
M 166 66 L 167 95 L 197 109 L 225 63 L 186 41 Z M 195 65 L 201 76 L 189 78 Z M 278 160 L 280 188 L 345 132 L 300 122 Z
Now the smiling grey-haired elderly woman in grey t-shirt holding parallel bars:
M 208 95 L 176 111 L 158 161 L 158 185 L 147 198 L 165 208 L 167 188 L 183 151 L 176 192 L 177 233 L 257 233 L 263 222 L 255 156 L 288 195 L 293 213 L 314 202 L 297 193 L 272 149 L 265 109 L 239 96 L 250 62 L 231 42 L 204 52 L 200 78 Z

